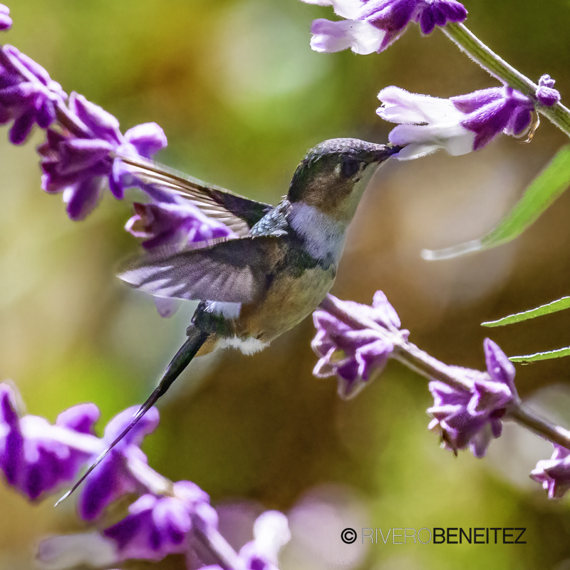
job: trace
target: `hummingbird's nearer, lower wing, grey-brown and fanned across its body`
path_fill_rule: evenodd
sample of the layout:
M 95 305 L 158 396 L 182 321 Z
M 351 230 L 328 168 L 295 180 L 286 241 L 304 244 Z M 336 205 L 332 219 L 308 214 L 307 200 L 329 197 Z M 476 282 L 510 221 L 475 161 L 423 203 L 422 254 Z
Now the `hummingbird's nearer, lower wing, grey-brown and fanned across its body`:
M 159 297 L 251 303 L 284 257 L 277 237 L 229 239 L 202 249 L 128 261 L 118 275 L 135 289 Z

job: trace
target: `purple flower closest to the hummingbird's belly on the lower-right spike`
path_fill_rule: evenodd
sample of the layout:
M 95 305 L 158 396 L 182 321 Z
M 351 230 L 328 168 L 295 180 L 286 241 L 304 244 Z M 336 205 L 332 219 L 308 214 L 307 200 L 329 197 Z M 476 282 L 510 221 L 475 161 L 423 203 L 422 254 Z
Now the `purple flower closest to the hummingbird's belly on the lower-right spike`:
M 336 299 L 336 302 L 341 301 Z M 372 306 L 354 301 L 342 301 L 342 304 L 357 318 L 374 321 L 394 332 L 400 328 L 398 314 L 382 291 L 376 291 Z M 313 320 L 317 333 L 311 346 L 321 357 L 314 375 L 317 378 L 337 375 L 338 395 L 343 399 L 353 398 L 383 371 L 394 350 L 393 343 L 380 331 L 352 328 L 322 309 L 314 311 Z M 407 336 L 408 331 L 402 334 Z

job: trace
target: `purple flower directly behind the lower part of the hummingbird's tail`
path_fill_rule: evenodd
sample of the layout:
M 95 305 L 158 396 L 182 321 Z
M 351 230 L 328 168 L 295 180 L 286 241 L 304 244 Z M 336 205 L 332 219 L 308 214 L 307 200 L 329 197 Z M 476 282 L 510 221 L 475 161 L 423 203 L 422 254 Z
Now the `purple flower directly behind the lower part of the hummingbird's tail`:
M 127 408 L 110 420 L 105 427 L 100 450 L 105 449 L 127 427 L 138 408 L 136 405 Z M 78 498 L 78 510 L 82 519 L 96 519 L 108 504 L 124 494 L 144 491 L 135 476 L 138 466 L 144 468 L 147 465 L 147 457 L 139 446 L 145 436 L 155 430 L 158 421 L 158 410 L 150 408 L 89 475 Z

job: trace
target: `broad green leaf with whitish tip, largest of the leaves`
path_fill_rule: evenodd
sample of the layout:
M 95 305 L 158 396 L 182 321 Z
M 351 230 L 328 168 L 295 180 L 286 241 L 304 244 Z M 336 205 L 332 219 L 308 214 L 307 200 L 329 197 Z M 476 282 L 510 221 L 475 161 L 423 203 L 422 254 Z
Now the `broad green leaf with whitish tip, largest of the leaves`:
M 564 145 L 539 175 L 530 183 L 522 198 L 499 222 L 480 239 L 473 239 L 445 249 L 424 249 L 428 260 L 450 259 L 470 252 L 481 252 L 510 242 L 533 224 L 544 210 L 570 185 L 570 145 Z

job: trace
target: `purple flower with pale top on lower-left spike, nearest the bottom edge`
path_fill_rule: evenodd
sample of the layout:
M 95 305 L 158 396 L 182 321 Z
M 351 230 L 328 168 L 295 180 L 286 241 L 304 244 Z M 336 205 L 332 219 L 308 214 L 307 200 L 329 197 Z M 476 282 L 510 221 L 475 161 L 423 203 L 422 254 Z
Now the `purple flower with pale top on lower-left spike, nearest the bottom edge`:
M 189 548 L 187 534 L 196 524 L 217 527 L 209 497 L 197 485 L 179 481 L 174 497 L 144 494 L 130 505 L 128 517 L 103 531 L 115 541 L 118 559 L 161 560 Z

